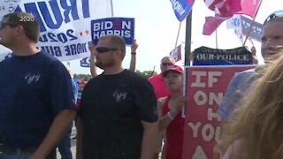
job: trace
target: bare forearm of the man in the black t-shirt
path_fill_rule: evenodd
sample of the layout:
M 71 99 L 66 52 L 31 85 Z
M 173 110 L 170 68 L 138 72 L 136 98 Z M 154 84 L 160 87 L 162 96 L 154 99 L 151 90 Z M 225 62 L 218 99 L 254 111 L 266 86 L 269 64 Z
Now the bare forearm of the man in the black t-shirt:
M 157 148 L 158 122 L 149 123 L 142 121 L 142 153 L 141 159 L 153 159 Z

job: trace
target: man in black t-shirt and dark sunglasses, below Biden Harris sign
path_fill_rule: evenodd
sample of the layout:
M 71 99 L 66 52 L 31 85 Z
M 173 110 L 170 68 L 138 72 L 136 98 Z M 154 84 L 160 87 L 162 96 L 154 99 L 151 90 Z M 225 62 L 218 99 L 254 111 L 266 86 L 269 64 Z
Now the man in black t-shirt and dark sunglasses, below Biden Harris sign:
M 82 93 L 77 158 L 153 158 L 158 134 L 153 87 L 122 67 L 126 45 L 120 36 L 101 37 L 95 54 L 104 72 Z

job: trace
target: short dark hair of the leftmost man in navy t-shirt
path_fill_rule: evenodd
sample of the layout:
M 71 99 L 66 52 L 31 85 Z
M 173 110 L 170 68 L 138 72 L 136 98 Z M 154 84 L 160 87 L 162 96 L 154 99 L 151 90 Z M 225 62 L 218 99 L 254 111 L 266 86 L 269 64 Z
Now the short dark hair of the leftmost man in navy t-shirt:
M 3 20 L 14 26 L 22 26 L 27 38 L 33 42 L 38 42 L 40 38 L 40 25 L 35 16 L 27 12 L 11 12 L 4 15 Z

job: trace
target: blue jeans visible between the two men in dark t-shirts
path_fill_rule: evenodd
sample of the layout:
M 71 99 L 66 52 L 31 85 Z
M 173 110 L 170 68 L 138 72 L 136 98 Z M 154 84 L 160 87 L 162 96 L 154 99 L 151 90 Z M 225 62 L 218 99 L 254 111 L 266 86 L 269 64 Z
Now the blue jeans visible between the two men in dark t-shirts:
M 72 127 L 73 124 L 71 125 L 71 129 L 65 134 L 62 140 L 59 142 L 58 150 L 62 156 L 61 159 L 73 159 L 73 155 L 71 151 Z

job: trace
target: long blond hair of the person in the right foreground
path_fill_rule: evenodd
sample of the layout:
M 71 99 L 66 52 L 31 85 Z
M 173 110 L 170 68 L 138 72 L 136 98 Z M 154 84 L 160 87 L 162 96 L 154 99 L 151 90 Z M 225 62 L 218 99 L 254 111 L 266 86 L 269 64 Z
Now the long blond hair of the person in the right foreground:
M 246 158 L 279 159 L 283 156 L 283 56 L 268 64 L 264 74 L 249 89 L 218 148 L 241 142 Z M 240 152 L 240 153 L 242 153 Z

